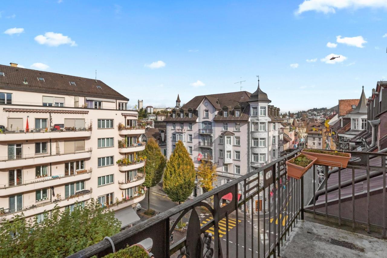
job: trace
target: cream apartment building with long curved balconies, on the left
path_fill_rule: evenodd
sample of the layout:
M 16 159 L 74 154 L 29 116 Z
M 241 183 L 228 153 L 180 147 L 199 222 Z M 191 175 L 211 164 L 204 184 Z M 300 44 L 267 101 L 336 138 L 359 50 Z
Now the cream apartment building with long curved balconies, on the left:
M 127 102 L 99 80 L 0 65 L 0 220 L 91 198 L 139 220 L 145 129 Z

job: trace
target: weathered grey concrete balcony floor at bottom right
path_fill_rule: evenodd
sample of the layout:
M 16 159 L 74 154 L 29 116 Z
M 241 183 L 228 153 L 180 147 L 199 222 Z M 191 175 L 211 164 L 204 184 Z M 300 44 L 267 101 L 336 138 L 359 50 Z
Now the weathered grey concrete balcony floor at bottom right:
M 299 220 L 281 248 L 281 257 L 387 257 L 387 241 Z

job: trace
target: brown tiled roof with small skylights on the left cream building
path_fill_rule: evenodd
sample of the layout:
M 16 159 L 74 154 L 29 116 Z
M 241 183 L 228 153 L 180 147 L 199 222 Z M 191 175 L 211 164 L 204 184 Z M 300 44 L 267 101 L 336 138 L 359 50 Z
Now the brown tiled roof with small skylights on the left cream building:
M 0 76 L 0 89 L 128 101 L 128 98 L 100 80 L 96 81 L 95 79 L 12 67 L 9 65 L 0 65 L 0 72 L 4 72 L 5 74 L 5 76 Z M 43 77 L 44 81 L 39 81 L 38 77 Z M 24 78 L 26 78 L 28 84 L 23 83 Z M 74 81 L 76 85 L 70 85 L 70 81 Z M 102 89 L 97 88 L 98 85 Z

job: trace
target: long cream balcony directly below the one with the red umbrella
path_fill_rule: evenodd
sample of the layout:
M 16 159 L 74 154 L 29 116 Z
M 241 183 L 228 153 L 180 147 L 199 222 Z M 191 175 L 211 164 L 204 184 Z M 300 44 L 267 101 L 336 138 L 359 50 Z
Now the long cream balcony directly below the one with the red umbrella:
M 78 150 L 74 152 L 55 151 L 51 154 L 26 154 L 18 155 L 15 158 L 0 157 L 0 169 L 8 169 L 12 167 L 24 167 L 38 165 L 50 162 L 61 162 L 67 160 L 77 160 L 91 157 L 92 148 Z

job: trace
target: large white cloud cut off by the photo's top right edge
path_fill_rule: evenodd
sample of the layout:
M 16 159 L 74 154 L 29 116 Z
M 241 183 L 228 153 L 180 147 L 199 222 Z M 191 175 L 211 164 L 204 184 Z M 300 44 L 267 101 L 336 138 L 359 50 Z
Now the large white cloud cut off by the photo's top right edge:
M 336 9 L 360 9 L 365 7 L 387 8 L 387 1 L 385 0 L 304 0 L 298 5 L 298 10 L 295 14 L 302 14 L 303 12 L 316 11 L 324 14 L 336 13 Z

